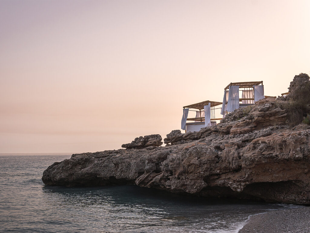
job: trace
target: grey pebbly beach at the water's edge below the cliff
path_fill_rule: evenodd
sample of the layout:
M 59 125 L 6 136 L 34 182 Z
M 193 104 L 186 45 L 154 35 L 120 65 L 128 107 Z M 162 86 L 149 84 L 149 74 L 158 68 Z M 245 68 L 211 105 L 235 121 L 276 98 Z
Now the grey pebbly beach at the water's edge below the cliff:
M 239 233 L 310 232 L 310 207 L 278 210 L 254 215 Z

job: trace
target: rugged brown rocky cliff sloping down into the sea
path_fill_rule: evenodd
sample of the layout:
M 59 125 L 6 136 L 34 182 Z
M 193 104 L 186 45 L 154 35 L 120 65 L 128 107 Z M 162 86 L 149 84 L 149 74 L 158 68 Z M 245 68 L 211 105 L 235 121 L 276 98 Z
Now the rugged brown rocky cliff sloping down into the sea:
M 49 166 L 42 180 L 310 204 L 310 95 L 299 99 L 310 92 L 309 76 L 296 75 L 289 91 L 276 101 L 237 109 L 217 126 L 186 134 L 173 130 L 165 147 L 159 146 L 160 135 L 150 135 L 124 144 L 127 149 L 73 154 Z

